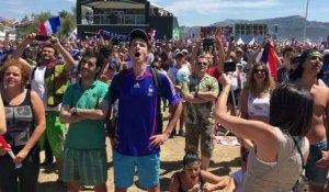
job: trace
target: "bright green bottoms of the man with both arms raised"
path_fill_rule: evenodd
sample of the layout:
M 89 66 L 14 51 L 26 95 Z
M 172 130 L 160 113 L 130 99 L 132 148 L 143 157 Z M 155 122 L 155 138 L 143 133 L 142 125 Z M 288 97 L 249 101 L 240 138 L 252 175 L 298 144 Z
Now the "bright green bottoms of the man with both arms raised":
M 44 147 L 45 139 L 48 139 L 53 155 L 61 158 L 65 138 L 65 124 L 59 121 L 59 112 L 46 112 L 46 131 L 39 138 L 41 148 Z

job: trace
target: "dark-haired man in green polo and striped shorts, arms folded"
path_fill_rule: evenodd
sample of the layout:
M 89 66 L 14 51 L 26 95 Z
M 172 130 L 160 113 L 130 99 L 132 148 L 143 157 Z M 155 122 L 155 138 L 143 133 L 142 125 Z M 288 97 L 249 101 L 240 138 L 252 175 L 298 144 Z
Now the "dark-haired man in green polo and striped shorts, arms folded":
M 95 80 L 101 69 L 95 55 L 84 56 L 79 65 L 81 79 L 67 88 L 60 109 L 60 121 L 70 124 L 63 153 L 63 181 L 68 182 L 70 192 L 83 185 L 106 192 L 104 120 L 109 86 Z

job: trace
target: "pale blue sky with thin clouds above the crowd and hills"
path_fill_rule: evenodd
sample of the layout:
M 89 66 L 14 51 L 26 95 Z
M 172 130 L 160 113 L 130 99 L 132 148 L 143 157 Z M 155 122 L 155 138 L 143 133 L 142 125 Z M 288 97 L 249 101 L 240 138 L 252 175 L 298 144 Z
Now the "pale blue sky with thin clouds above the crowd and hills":
M 272 19 L 305 15 L 307 0 L 150 0 L 178 16 L 185 26 L 208 25 L 226 19 Z M 328 0 L 309 0 L 308 20 L 329 22 Z M 70 10 L 76 0 L 1 0 L 0 15 L 22 19 L 25 14 Z

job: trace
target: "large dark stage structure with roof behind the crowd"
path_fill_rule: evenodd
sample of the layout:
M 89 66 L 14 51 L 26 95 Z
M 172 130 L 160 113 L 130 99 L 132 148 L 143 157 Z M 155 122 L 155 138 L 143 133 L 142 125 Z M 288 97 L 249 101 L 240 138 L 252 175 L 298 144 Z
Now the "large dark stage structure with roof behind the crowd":
M 157 37 L 172 38 L 179 30 L 173 14 L 147 0 L 77 0 L 78 36 L 97 33 L 128 35 L 133 29 L 157 31 Z M 90 36 L 90 35 L 89 35 Z

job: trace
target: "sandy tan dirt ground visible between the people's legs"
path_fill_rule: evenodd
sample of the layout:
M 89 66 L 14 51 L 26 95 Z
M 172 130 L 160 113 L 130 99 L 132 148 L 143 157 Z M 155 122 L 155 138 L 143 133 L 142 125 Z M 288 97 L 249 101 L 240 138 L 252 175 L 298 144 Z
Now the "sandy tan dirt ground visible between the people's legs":
M 168 114 L 167 114 L 168 116 Z M 167 122 L 164 122 L 166 124 Z M 109 140 L 107 140 L 109 144 Z M 112 150 L 107 145 L 107 190 L 114 191 L 113 184 L 113 166 L 112 166 Z M 171 176 L 182 168 L 182 158 L 184 156 L 184 137 L 175 136 L 170 138 L 161 147 L 161 171 L 160 171 L 160 187 L 161 191 L 169 190 L 169 181 Z M 42 153 L 42 159 L 44 155 Z M 239 147 L 238 146 L 223 146 L 215 145 L 214 157 L 212 158 L 209 171 L 223 176 L 228 181 L 228 176 L 232 171 L 239 169 Z M 55 165 L 41 169 L 38 178 L 38 191 L 39 192 L 65 192 L 57 180 L 57 173 L 55 172 Z M 135 179 L 135 182 L 137 178 Z M 92 191 L 91 187 L 86 187 L 83 191 Z M 129 192 L 141 192 L 136 185 L 128 189 Z

